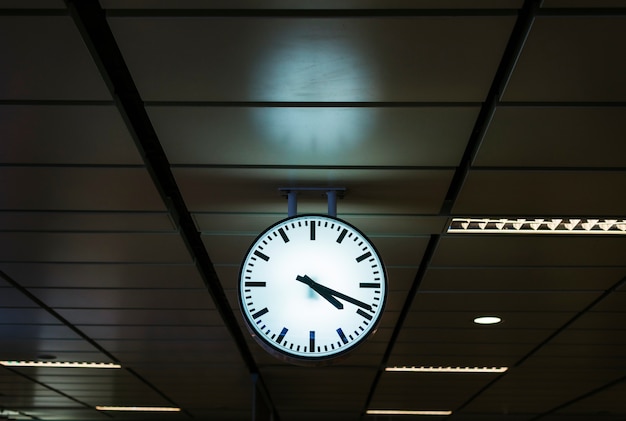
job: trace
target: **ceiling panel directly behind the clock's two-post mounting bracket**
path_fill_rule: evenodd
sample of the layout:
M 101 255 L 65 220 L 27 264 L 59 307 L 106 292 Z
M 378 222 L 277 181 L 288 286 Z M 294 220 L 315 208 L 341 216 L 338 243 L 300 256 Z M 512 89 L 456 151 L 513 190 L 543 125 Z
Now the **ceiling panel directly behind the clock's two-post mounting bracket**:
M 339 187 L 347 189 L 341 213 L 436 213 L 452 177 L 450 170 L 405 169 L 175 167 L 173 172 L 196 212 L 286 212 L 280 188 Z M 302 197 L 298 212 L 327 213 L 328 205 L 319 196 Z

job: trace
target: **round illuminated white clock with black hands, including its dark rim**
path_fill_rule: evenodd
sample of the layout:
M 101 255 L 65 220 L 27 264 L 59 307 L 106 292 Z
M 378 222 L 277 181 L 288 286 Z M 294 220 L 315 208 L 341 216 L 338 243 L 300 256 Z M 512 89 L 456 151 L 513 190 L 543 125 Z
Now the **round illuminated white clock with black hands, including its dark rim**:
M 363 342 L 386 297 L 385 268 L 372 243 L 324 215 L 298 215 L 265 230 L 239 276 L 239 303 L 253 336 L 294 363 L 329 361 Z

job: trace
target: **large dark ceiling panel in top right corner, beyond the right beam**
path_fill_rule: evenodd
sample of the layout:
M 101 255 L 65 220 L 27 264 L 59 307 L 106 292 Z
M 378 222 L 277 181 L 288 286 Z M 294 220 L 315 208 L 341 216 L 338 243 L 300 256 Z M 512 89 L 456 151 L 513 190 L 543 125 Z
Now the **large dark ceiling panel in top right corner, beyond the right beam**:
M 624 101 L 624 38 L 624 16 L 537 17 L 502 98 Z

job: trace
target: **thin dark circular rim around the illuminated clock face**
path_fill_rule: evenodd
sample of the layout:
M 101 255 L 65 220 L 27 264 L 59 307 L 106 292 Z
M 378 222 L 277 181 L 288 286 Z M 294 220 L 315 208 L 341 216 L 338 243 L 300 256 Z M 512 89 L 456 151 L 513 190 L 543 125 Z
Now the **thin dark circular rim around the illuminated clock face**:
M 267 235 L 269 232 L 271 232 L 276 226 L 281 225 L 281 224 L 285 224 L 288 221 L 292 220 L 292 219 L 298 219 L 298 218 L 303 218 L 303 217 L 314 217 L 314 218 L 325 218 L 325 219 L 329 219 L 329 220 L 333 220 L 333 221 L 337 221 L 341 224 L 345 224 L 348 227 L 350 227 L 351 229 L 353 229 L 357 234 L 361 235 L 368 243 L 369 246 L 371 247 L 371 249 L 373 250 L 373 252 L 376 254 L 376 256 L 378 257 L 378 260 L 380 261 L 381 264 L 381 272 L 383 274 L 383 278 L 384 278 L 384 291 L 383 291 L 383 297 L 381 297 L 381 306 L 380 306 L 380 311 L 378 313 L 378 316 L 375 318 L 375 320 L 372 322 L 372 324 L 370 325 L 371 327 L 369 328 L 369 330 L 364 334 L 364 337 L 362 339 L 359 339 L 358 341 L 355 341 L 354 343 L 346 346 L 345 348 L 339 348 L 337 349 L 333 354 L 331 355 L 326 355 L 326 356 L 300 356 L 300 355 L 294 355 L 289 353 L 288 351 L 285 351 L 281 348 L 276 347 L 274 344 L 271 343 L 271 341 L 269 341 L 268 339 L 266 339 L 264 336 L 259 335 L 257 330 L 254 328 L 252 321 L 249 320 L 245 310 L 244 310 L 244 305 L 245 303 L 242 300 L 242 276 L 244 274 L 244 264 L 245 262 L 248 260 L 248 257 L 250 256 L 250 253 L 253 251 L 253 248 L 255 246 L 255 244 L 257 244 L 257 242 L 259 241 L 259 239 L 261 239 L 263 236 Z M 303 365 L 303 366 L 324 366 L 324 365 L 329 365 L 329 364 L 333 364 L 335 362 L 344 360 L 345 358 L 348 357 L 348 354 L 351 353 L 352 351 L 354 351 L 355 349 L 359 348 L 362 344 L 364 344 L 365 342 L 367 342 L 367 340 L 369 340 L 371 338 L 372 335 L 374 335 L 376 333 L 376 331 L 378 330 L 380 321 L 382 320 L 383 314 L 385 312 L 385 307 L 387 305 L 387 295 L 388 295 L 388 288 L 389 288 L 389 282 L 388 282 L 388 277 L 387 277 L 387 267 L 383 261 L 383 258 L 381 256 L 381 254 L 378 252 L 378 249 L 376 248 L 376 246 L 374 245 L 374 243 L 372 242 L 372 240 L 370 240 L 370 238 L 365 235 L 365 233 L 363 231 L 361 231 L 359 228 L 357 228 L 356 226 L 354 226 L 353 224 L 351 224 L 350 222 L 336 217 L 336 216 L 332 216 L 332 215 L 326 215 L 326 214 L 322 214 L 322 213 L 302 213 L 302 214 L 297 214 L 297 215 L 293 215 L 293 216 L 288 216 L 286 218 L 283 218 L 271 225 L 269 225 L 267 228 L 263 229 L 263 231 L 261 231 L 259 233 L 259 235 L 257 235 L 254 240 L 252 241 L 252 243 L 250 243 L 250 246 L 248 247 L 248 249 L 246 250 L 246 253 L 244 254 L 243 260 L 241 262 L 241 265 L 239 267 L 239 276 L 237 278 L 237 300 L 238 300 L 238 304 L 239 304 L 239 310 L 241 311 L 241 315 L 245 321 L 245 325 L 246 328 L 248 329 L 248 332 L 250 333 L 250 335 L 254 338 L 255 342 L 258 343 L 259 345 L 261 345 L 261 347 L 270 355 L 272 355 L 273 357 L 292 363 L 292 364 L 296 364 L 296 365 Z

